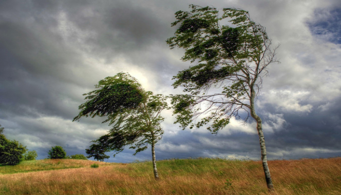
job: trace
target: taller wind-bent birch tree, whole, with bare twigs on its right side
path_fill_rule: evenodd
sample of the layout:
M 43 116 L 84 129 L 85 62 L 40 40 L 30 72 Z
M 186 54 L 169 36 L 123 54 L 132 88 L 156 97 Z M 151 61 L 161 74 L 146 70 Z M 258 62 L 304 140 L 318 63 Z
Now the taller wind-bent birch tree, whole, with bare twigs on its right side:
M 175 13 L 172 26 L 180 25 L 175 36 L 167 39 L 171 49 L 185 49 L 183 61 L 196 62 L 173 77 L 174 88 L 181 86 L 189 93 L 172 97 L 176 123 L 183 129 L 209 123 L 208 130 L 217 133 L 231 117 L 246 111 L 257 122 L 266 184 L 271 190 L 262 120 L 256 114 L 255 99 L 266 67 L 276 61 L 276 49 L 270 49 L 271 39 L 265 28 L 252 21 L 247 11 L 224 8 L 220 18 L 214 7 L 189 7 L 190 12 Z M 224 19 L 230 25 L 221 25 Z

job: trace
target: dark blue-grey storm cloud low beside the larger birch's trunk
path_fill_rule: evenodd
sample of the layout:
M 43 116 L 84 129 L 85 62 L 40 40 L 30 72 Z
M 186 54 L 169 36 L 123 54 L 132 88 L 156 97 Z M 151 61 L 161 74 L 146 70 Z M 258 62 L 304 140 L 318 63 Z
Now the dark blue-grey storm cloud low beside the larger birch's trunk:
M 265 133 L 270 158 L 302 158 L 340 156 L 341 154 L 341 99 L 313 104 L 310 112 L 285 112 L 285 120 L 273 133 Z M 303 104 L 307 102 L 301 102 Z M 260 116 L 269 123 L 267 113 L 278 113 L 271 104 L 265 104 Z

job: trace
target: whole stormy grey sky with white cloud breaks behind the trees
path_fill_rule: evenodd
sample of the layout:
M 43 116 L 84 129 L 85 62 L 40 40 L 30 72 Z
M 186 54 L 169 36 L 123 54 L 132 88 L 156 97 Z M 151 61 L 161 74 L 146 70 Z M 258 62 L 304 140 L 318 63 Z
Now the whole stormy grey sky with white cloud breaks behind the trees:
M 52 146 L 85 154 L 109 130 L 102 118 L 81 118 L 82 94 L 101 79 L 129 72 L 156 94 L 179 94 L 171 78 L 189 67 L 170 50 L 174 13 L 189 4 L 248 10 L 266 27 L 280 64 L 269 66 L 257 113 L 269 159 L 341 156 L 340 0 L 1 0 L 0 124 L 38 158 Z M 162 126 L 156 158 L 260 159 L 256 125 L 232 120 L 217 136 Z M 111 154 L 111 153 L 110 153 Z M 151 159 L 150 150 L 109 162 Z

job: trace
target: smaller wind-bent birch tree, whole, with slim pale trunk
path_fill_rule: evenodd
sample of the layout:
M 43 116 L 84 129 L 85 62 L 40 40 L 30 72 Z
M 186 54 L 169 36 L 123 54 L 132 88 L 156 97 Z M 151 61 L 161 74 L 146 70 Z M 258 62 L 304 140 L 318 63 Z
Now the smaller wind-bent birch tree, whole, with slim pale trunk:
M 108 117 L 103 122 L 109 122 L 112 128 L 95 142 L 116 154 L 131 145 L 130 148 L 135 149 L 133 155 L 136 155 L 150 144 L 154 177 L 158 179 L 155 144 L 164 133 L 160 124 L 164 117 L 160 114 L 169 109 L 167 97 L 146 92 L 136 78 L 127 73 L 100 80 L 95 87 L 99 89 L 84 94 L 88 100 L 79 106 L 81 111 L 74 120 L 84 116 Z

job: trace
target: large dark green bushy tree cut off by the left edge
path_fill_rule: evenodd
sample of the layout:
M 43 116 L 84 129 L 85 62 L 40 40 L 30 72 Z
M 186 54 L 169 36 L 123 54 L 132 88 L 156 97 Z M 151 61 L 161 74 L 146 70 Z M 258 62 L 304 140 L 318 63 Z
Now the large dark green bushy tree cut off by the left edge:
M 16 165 L 23 160 L 26 146 L 16 140 L 7 139 L 2 133 L 4 128 L 0 125 L 0 164 Z

